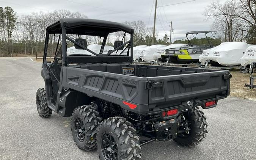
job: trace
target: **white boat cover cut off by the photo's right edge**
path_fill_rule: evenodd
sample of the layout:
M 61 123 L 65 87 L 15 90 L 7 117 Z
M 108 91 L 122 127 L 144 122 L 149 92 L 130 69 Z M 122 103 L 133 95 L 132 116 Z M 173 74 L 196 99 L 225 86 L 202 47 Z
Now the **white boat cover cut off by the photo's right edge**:
M 253 62 L 256 62 L 256 46 L 248 47 L 241 58 L 242 66 L 247 66 Z

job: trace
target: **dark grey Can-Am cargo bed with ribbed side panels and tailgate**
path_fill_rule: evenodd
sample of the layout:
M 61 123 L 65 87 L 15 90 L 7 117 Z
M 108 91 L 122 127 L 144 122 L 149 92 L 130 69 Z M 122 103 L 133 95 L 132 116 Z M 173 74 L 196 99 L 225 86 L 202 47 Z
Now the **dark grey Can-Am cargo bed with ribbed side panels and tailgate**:
M 134 68 L 134 75 L 123 75 L 123 69 Z M 151 114 L 162 108 L 198 103 L 229 95 L 229 71 L 187 67 L 148 66 L 138 64 L 86 64 L 63 67 L 63 87 L 71 88 L 130 108 L 133 112 Z M 153 87 L 154 83 L 160 84 Z

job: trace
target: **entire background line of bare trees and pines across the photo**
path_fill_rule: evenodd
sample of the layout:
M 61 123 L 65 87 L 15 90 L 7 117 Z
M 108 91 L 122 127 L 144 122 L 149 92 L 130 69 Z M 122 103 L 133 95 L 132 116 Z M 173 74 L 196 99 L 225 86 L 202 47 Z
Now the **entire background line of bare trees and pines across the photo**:
M 232 41 L 256 44 L 256 0 L 226 0 L 224 3 L 214 0 L 205 8 L 203 15 L 206 19 L 213 19 L 211 28 L 217 31 L 218 36 L 218 39 L 211 39 L 213 45 Z M 11 56 L 13 53 L 35 55 L 36 52 L 43 52 L 46 27 L 60 18 L 88 17 L 66 9 L 17 16 L 11 7 L 0 7 L 0 56 Z M 134 28 L 134 46 L 151 45 L 153 27 L 147 27 L 141 20 L 123 23 Z M 116 32 L 112 38 L 120 40 L 123 34 L 123 32 Z M 85 38 L 88 44 L 101 44 L 102 42 L 95 36 Z M 106 45 L 113 45 L 112 38 L 110 36 L 107 38 Z M 155 44 L 170 44 L 167 35 L 156 34 L 154 39 Z M 195 44 L 206 42 L 206 39 L 194 40 Z M 57 36 L 50 36 L 49 52 L 54 51 L 57 41 Z M 184 38 L 174 43 L 187 43 L 187 40 Z

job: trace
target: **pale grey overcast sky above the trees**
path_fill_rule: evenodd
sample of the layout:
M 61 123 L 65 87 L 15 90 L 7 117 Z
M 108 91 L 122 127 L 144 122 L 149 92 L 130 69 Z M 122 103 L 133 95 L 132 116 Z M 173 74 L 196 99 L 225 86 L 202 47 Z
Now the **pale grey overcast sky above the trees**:
M 158 6 L 164 6 L 157 8 L 156 30 L 159 37 L 165 33 L 170 36 L 170 21 L 174 30 L 172 40 L 184 38 L 187 31 L 211 29 L 212 20 L 206 21 L 202 13 L 212 0 L 187 1 L 191 0 L 158 0 Z M 187 3 L 171 5 L 181 2 Z M 0 0 L 0 3 L 3 7 L 11 6 L 18 16 L 68 9 L 79 11 L 91 19 L 115 22 L 142 20 L 147 27 L 152 27 L 155 0 Z

